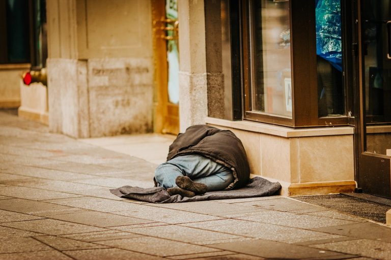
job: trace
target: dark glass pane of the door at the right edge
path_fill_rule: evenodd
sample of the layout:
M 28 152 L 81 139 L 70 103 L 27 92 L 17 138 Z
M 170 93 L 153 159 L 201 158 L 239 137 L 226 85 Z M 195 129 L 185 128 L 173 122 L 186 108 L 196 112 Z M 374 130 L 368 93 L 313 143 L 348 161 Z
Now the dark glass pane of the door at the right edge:
M 366 151 L 386 155 L 391 154 L 391 3 L 363 0 L 361 9 Z

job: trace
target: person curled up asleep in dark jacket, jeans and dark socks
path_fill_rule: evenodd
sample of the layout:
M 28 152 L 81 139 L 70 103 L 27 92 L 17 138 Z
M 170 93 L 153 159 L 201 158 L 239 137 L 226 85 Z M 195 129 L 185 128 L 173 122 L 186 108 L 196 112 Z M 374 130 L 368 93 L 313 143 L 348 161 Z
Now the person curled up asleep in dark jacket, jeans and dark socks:
M 193 125 L 170 145 L 167 161 L 155 170 L 154 182 L 171 196 L 194 197 L 243 187 L 249 176 L 243 144 L 231 131 Z

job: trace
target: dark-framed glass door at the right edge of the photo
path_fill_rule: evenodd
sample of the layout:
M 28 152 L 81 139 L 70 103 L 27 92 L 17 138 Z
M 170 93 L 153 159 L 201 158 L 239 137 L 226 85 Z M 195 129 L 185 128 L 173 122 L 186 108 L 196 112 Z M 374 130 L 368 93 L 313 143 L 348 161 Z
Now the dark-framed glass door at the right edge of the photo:
M 360 2 L 358 185 L 366 193 L 391 198 L 391 2 Z

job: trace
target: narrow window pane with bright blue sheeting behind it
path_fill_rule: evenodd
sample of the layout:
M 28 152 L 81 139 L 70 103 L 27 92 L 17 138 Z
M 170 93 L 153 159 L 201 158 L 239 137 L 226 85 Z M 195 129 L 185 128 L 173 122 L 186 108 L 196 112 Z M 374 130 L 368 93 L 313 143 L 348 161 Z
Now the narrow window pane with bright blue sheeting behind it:
M 315 0 L 318 112 L 345 114 L 342 62 L 341 0 Z

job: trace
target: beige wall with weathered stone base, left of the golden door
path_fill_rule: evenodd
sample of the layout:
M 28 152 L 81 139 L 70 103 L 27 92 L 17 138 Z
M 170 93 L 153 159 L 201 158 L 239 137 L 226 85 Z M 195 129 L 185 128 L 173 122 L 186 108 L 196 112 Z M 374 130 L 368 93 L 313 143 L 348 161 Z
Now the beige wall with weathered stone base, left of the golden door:
M 49 127 L 73 137 L 152 131 L 151 3 L 47 2 Z

